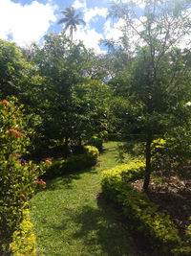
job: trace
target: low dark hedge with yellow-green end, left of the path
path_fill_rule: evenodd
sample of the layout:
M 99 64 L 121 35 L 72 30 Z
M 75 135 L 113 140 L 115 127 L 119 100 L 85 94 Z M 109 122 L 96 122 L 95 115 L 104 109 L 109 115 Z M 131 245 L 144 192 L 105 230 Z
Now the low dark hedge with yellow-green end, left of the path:
M 85 146 L 84 148 L 84 153 L 53 161 L 53 164 L 49 166 L 43 176 L 53 178 L 96 165 L 98 150 L 93 146 Z

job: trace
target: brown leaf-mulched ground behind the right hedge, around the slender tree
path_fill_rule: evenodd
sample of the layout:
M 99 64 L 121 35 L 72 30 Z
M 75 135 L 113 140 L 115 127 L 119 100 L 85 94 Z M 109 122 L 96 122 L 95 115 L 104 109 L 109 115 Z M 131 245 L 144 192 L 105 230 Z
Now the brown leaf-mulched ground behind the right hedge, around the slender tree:
M 142 191 L 143 180 L 137 180 L 132 185 Z M 165 177 L 159 183 L 152 178 L 148 197 L 159 205 L 160 212 L 170 215 L 171 221 L 179 230 L 180 238 L 184 240 L 191 215 L 191 181 L 177 175 Z

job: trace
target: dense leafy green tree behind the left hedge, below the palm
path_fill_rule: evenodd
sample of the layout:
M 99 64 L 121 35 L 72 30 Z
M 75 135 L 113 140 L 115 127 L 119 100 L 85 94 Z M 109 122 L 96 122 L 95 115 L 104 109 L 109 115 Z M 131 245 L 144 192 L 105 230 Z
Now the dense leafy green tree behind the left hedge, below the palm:
M 64 143 L 67 151 L 69 141 L 77 143 L 103 129 L 99 124 L 106 119 L 107 88 L 96 80 L 92 58 L 82 43 L 71 43 L 63 33 L 45 36 L 43 47 L 36 49 L 33 60 L 42 78 L 37 91 L 36 113 L 41 118 L 38 134 L 47 147 L 57 141 Z

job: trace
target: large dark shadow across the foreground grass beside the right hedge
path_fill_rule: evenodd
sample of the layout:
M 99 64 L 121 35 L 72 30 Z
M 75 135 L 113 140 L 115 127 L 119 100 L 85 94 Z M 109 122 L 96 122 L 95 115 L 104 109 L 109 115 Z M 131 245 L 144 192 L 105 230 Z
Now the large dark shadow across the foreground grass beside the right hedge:
M 85 205 L 74 212 L 66 209 L 68 221 L 79 227 L 72 235 L 74 241 L 83 240 L 90 255 L 138 256 L 127 227 L 124 228 L 119 221 L 120 214 L 117 214 L 105 198 L 97 198 L 97 204 L 98 208 Z M 66 228 L 65 222 L 52 228 L 56 232 L 59 232 L 59 229 L 62 232 Z

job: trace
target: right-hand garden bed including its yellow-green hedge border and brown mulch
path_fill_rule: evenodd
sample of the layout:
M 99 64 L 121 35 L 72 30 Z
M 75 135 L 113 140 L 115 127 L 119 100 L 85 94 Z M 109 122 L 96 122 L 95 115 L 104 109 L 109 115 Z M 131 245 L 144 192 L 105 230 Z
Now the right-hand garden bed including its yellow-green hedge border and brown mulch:
M 155 246 L 155 252 L 190 255 L 190 206 L 183 198 L 185 194 L 190 195 L 189 182 L 177 176 L 163 180 L 161 176 L 154 175 L 150 192 L 146 195 L 142 192 L 143 180 L 138 177 L 142 168 L 141 161 L 134 160 L 128 165 L 105 171 L 102 175 L 103 192 L 122 207 L 127 220 L 131 221 L 131 227 Z M 162 190 L 159 191 L 159 188 Z M 185 212 L 181 210 L 183 206 Z M 180 223 L 184 229 L 178 229 Z

